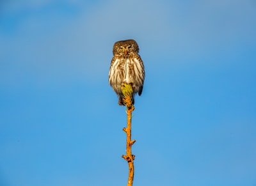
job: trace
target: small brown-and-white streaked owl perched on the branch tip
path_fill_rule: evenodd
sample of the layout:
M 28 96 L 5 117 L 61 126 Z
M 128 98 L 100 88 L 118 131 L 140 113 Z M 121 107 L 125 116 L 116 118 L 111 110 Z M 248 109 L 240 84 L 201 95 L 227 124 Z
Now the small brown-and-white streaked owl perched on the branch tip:
M 145 70 L 138 52 L 139 46 L 134 40 L 124 40 L 114 44 L 108 81 L 118 95 L 119 105 L 124 105 L 121 89 L 123 83 L 132 85 L 132 104 L 134 104 L 134 95 L 138 93 L 140 96 L 142 93 Z

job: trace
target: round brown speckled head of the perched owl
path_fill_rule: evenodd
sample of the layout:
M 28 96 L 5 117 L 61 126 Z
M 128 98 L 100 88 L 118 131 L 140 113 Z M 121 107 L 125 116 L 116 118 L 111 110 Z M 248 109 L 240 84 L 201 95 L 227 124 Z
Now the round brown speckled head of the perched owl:
M 119 42 L 115 42 L 113 47 L 113 54 L 128 56 L 129 54 L 139 52 L 139 46 L 134 40 L 123 40 Z

